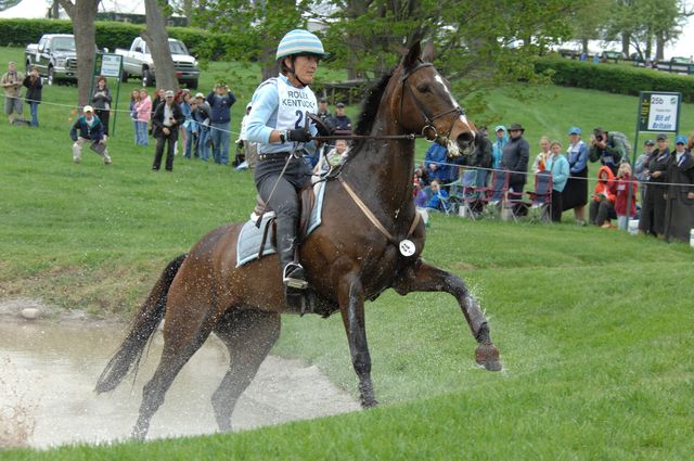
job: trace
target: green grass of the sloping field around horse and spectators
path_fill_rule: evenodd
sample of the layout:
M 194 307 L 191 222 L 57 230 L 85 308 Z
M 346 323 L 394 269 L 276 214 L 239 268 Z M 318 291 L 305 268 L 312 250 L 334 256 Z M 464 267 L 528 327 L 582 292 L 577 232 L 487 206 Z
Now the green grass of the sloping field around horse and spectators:
M 203 88 L 228 67 L 215 66 Z M 47 88 L 40 129 L 0 121 L 0 298 L 127 317 L 166 261 L 216 226 L 245 219 L 255 189 L 247 172 L 180 157 L 174 174 L 153 174 L 154 146 L 136 148 L 125 117 L 110 142 L 113 165 L 93 154 L 74 165 L 69 108 L 48 104 L 74 100 L 75 88 Z M 535 104 L 509 90 L 489 103 L 509 114 L 503 121 L 524 123 L 531 139 L 563 139 L 574 124 L 629 133 L 635 105 L 554 87 Z M 683 126 L 694 126 L 691 105 Z M 231 435 L 0 451 L 0 459 L 691 459 L 694 251 L 565 221 L 433 217 L 424 256 L 461 274 L 480 299 L 501 373 L 474 366 L 475 344 L 452 297 L 386 292 L 367 308 L 375 410 Z M 317 364 L 356 393 L 336 316 L 285 317 L 274 354 Z

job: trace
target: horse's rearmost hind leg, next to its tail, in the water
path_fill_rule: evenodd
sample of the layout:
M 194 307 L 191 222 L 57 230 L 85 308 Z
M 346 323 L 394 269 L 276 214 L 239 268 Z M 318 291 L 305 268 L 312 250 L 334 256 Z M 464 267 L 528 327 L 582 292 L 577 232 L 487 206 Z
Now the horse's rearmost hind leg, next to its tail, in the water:
M 191 319 L 174 316 L 171 304 L 167 306 L 164 329 L 164 350 L 162 359 L 152 379 L 144 385 L 140 415 L 132 428 L 132 437 L 144 439 L 150 428 L 150 421 L 164 402 L 164 396 L 171 386 L 181 368 L 193 357 L 193 354 L 205 343 L 213 324 L 207 319 Z M 200 308 L 198 312 L 205 309 Z M 188 311 L 190 313 L 190 310 Z M 202 315 L 202 313 L 201 313 Z

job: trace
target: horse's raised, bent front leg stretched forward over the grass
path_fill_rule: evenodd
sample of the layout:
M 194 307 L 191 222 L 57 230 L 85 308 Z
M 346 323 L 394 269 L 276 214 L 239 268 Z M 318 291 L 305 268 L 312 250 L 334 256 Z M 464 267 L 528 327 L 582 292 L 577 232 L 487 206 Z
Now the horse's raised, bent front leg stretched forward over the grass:
M 463 279 L 421 259 L 399 276 L 393 289 L 400 295 L 410 292 L 447 292 L 453 295 L 465 315 L 473 336 L 479 344 L 475 350 L 475 360 L 487 370 L 501 370 L 499 349 L 491 342 L 487 318 L 479 308 L 475 296 L 467 290 Z

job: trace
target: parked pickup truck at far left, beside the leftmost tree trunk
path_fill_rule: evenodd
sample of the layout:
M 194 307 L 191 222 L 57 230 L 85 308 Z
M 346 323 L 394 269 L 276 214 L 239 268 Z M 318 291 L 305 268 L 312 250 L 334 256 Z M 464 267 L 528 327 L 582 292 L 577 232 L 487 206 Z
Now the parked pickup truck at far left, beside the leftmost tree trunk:
M 24 50 L 27 73 L 39 69 L 48 85 L 59 81 L 77 82 L 77 51 L 72 34 L 46 34 L 38 43 L 27 44 Z

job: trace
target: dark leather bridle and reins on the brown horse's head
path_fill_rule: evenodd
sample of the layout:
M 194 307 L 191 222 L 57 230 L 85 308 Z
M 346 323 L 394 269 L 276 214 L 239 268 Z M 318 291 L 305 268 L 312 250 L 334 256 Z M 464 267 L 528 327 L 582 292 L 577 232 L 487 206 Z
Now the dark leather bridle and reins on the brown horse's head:
M 401 119 L 402 118 L 402 101 L 404 100 L 404 91 L 406 89 L 410 90 L 410 95 L 412 97 L 412 101 L 414 101 L 414 105 L 416 105 L 416 108 L 420 111 L 420 114 L 422 115 L 422 117 L 424 118 L 425 121 L 425 126 L 424 128 L 422 128 L 422 132 L 421 133 L 408 133 L 408 135 L 347 135 L 347 136 L 314 136 L 313 139 L 319 140 L 319 141 L 330 141 L 330 140 L 336 140 L 336 139 L 345 139 L 345 140 L 351 140 L 351 139 L 416 139 L 416 138 L 424 138 L 426 139 L 428 142 L 439 142 L 440 144 L 446 144 L 446 142 L 450 139 L 450 135 L 451 131 L 453 131 L 453 125 L 455 124 L 455 119 L 458 117 L 460 117 L 461 115 L 465 115 L 465 111 L 461 107 L 461 106 L 455 106 L 452 107 L 446 112 L 442 112 L 440 114 L 437 115 L 432 115 L 429 113 L 429 111 L 424 106 L 424 104 L 422 104 L 422 101 L 420 101 L 416 98 L 416 94 L 414 93 L 414 91 L 412 90 L 412 88 L 408 85 L 408 78 L 410 78 L 413 74 L 415 74 L 417 71 L 420 71 L 421 68 L 424 67 L 433 67 L 434 64 L 432 63 L 425 63 L 425 62 L 420 62 L 420 64 L 414 67 L 412 71 L 409 72 L 404 72 L 404 75 L 401 78 L 402 81 L 402 90 L 401 90 L 401 97 L 400 97 L 400 107 L 398 111 L 398 118 Z M 437 118 L 441 118 L 445 117 L 449 114 L 457 114 L 457 117 L 453 117 L 451 119 L 451 125 L 450 128 L 448 129 L 448 133 L 446 133 L 445 137 L 440 137 L 438 133 L 438 130 L 436 129 L 436 127 L 434 126 L 434 120 L 436 120 Z M 426 136 L 425 132 L 432 132 L 433 131 L 433 136 Z

